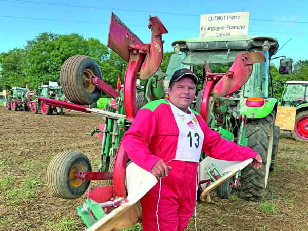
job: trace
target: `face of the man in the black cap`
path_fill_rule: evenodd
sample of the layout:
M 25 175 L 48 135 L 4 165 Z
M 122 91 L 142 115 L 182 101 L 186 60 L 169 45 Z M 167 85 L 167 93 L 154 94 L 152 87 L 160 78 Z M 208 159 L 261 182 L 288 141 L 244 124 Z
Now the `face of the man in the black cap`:
M 169 99 L 172 104 L 187 113 L 189 105 L 194 101 L 196 85 L 189 77 L 182 77 L 174 83 L 172 90 L 168 87 Z

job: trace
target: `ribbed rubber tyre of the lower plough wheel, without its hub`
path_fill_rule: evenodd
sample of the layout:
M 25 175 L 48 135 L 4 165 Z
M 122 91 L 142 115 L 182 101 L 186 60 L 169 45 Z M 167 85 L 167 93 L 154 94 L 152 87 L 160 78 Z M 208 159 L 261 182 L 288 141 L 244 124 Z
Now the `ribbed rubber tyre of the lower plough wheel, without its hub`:
M 72 159 L 83 159 L 90 163 L 89 159 L 79 151 L 63 151 L 58 153 L 50 162 L 47 169 L 47 185 L 52 193 L 63 199 L 75 199 L 84 194 L 90 185 L 90 181 L 83 181 L 79 187 L 74 188 L 70 182 L 65 181 L 69 179 L 69 172 L 67 174 L 67 166 Z M 85 171 L 92 171 L 91 164 Z M 73 192 L 72 192 L 73 190 Z

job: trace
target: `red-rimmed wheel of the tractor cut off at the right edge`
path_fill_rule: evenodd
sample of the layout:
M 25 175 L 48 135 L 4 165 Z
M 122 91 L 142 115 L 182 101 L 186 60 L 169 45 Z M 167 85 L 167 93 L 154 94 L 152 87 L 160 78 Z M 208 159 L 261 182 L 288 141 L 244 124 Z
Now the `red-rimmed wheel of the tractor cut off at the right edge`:
M 291 131 L 291 136 L 300 142 L 308 142 L 308 111 L 296 114 L 295 127 Z

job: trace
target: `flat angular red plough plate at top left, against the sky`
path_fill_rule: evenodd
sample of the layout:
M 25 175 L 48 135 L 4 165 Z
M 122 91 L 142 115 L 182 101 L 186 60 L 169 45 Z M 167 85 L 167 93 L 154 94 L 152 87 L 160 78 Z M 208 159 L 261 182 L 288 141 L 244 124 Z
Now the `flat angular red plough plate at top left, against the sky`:
M 140 45 L 141 40 L 113 12 L 111 13 L 107 46 L 129 61 L 131 45 Z

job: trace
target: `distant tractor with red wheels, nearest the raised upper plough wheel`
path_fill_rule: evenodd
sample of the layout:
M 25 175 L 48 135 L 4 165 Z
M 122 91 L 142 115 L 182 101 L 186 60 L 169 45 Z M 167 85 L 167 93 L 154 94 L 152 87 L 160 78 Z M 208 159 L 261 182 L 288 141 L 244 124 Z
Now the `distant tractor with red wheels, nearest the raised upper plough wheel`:
M 56 82 L 49 82 L 48 85 L 42 85 L 41 87 L 34 88 L 36 98 L 30 101 L 30 108 L 32 113 L 37 114 L 40 110 L 42 114 L 51 115 L 53 112 L 56 114 L 64 114 L 65 108 L 47 105 L 45 101 L 38 100 L 38 97 L 49 98 L 53 100 L 65 101 L 64 95 L 62 95 L 61 87 Z

